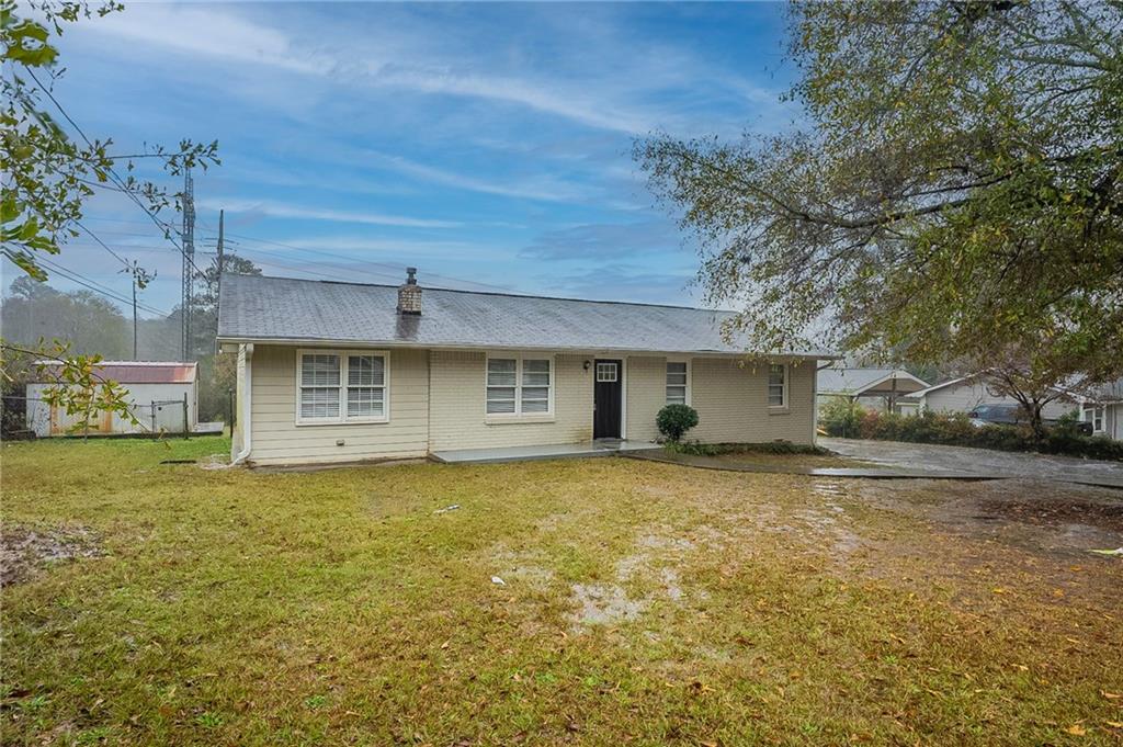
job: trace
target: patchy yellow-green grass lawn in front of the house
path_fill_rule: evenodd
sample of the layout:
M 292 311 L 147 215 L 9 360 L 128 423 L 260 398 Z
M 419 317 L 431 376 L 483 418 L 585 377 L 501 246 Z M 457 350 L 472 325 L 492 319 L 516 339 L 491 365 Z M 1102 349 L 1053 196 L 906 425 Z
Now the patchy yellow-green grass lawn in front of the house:
M 1119 492 L 227 447 L 2 448 L 2 744 L 1123 739 Z

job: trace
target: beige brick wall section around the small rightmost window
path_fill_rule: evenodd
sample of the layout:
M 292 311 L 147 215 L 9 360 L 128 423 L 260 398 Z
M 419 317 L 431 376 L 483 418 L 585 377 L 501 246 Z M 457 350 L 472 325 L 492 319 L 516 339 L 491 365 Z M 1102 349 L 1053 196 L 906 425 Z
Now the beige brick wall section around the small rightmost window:
M 691 400 L 699 426 L 687 434 L 705 443 L 789 440 L 814 443 L 813 361 L 788 366 L 788 406 L 768 407 L 768 366 L 733 358 L 694 358 Z

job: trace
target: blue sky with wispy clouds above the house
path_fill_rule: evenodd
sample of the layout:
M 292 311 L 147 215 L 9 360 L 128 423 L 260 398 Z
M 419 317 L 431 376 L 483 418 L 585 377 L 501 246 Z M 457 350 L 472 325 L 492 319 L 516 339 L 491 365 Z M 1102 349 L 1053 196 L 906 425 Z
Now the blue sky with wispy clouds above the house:
M 266 274 L 396 283 L 416 265 L 430 285 L 695 303 L 695 247 L 632 140 L 788 126 L 784 12 L 128 3 L 67 28 L 56 94 L 117 152 L 218 139 L 222 165 L 195 173 L 197 247 L 213 250 L 225 208 L 231 248 Z M 170 310 L 177 254 L 140 210 L 107 194 L 88 216 L 158 272 L 144 300 Z M 88 240 L 58 262 L 129 288 Z

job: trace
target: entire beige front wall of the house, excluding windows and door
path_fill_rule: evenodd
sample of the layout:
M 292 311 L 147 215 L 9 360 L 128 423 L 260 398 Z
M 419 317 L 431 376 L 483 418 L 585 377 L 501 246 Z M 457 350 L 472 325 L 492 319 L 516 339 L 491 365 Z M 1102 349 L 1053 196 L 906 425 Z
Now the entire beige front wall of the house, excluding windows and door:
M 250 362 L 249 458 L 259 464 L 346 462 L 458 448 L 586 441 L 593 435 L 593 373 L 584 368 L 584 362 L 594 357 L 554 356 L 553 415 L 501 420 L 484 411 L 484 352 L 394 349 L 390 353 L 389 422 L 298 426 L 296 348 L 258 345 Z M 667 358 L 619 357 L 627 357 L 627 437 L 655 439 L 655 418 L 666 403 Z M 813 363 L 789 366 L 788 407 L 783 410 L 767 406 L 766 365 L 741 366 L 731 358 L 695 357 L 690 373 L 691 404 L 701 421 L 690 438 L 710 443 L 813 441 Z M 239 375 L 239 383 L 243 379 Z M 338 439 L 345 441 L 343 446 L 336 444 Z

